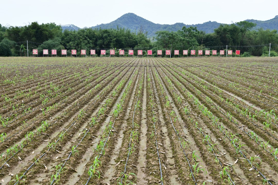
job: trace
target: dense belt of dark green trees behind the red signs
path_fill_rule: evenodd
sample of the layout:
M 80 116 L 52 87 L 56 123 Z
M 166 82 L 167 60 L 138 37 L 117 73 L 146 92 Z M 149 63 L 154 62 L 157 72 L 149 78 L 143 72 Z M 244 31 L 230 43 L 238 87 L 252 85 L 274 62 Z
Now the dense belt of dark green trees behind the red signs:
M 157 31 L 155 37 L 148 38 L 148 31 L 141 25 L 136 31 L 130 29 L 92 29 L 85 28 L 78 31 L 64 30 L 55 23 L 38 24 L 32 22 L 23 27 L 4 27 L 0 24 L 0 56 L 31 56 L 33 49 L 38 49 L 38 56 L 43 55 L 43 49 L 57 49 L 57 55 L 61 56 L 61 49 L 77 49 L 80 56 L 81 49 L 86 49 L 87 55 L 91 49 L 96 49 L 100 55 L 100 49 L 138 49 L 153 50 L 156 56 L 158 49 L 164 50 L 240 50 L 241 55 L 268 56 L 269 43 L 271 43 L 271 56 L 278 56 L 277 30 L 254 29 L 256 24 L 241 21 L 234 24 L 220 24 L 213 33 L 206 34 L 197 27 L 185 27 L 178 31 Z M 260 45 L 250 47 L 253 45 Z M 204 52 L 203 52 L 204 53 Z M 145 52 L 144 52 L 145 54 Z M 165 56 L 165 55 L 163 55 Z

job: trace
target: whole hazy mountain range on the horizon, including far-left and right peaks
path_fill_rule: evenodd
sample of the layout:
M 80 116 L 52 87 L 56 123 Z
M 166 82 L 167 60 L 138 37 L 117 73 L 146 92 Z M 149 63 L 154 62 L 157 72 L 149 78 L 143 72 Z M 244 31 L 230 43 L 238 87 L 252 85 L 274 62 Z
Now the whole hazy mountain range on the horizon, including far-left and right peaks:
M 254 19 L 247 19 L 245 21 L 249 22 L 254 22 L 257 24 L 256 28 L 263 27 L 264 29 L 276 29 L 278 30 L 278 16 L 275 16 L 273 19 L 267 20 L 267 21 L 258 21 Z M 148 31 L 148 37 L 154 37 L 155 32 L 157 31 L 178 31 L 181 30 L 183 26 L 186 27 L 197 27 L 198 30 L 205 31 L 206 33 L 212 33 L 214 32 L 215 28 L 218 28 L 220 23 L 216 21 L 209 21 L 209 22 L 204 22 L 202 24 L 184 24 L 177 22 L 175 24 L 155 24 L 151 21 L 148 21 L 147 19 L 144 19 L 143 17 L 137 16 L 136 14 L 133 13 L 127 13 L 116 19 L 115 21 L 112 21 L 107 24 L 100 24 L 93 26 L 91 28 L 100 28 L 101 29 L 110 29 L 114 28 L 117 29 L 117 26 L 119 27 L 124 27 L 130 29 L 132 32 L 136 30 L 136 33 L 138 32 L 138 27 L 140 26 L 145 26 L 145 31 Z M 68 24 L 68 25 L 61 25 L 62 29 L 69 29 L 69 30 L 78 30 L 81 29 L 73 24 Z M 145 32 L 144 31 L 144 32 Z

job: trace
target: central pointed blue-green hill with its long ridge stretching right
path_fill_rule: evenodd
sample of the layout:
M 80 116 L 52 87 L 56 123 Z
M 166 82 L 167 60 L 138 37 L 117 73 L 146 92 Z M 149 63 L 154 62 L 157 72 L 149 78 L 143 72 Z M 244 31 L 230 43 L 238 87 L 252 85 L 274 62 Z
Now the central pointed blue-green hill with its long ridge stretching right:
M 155 24 L 151 21 L 148 21 L 147 19 L 144 19 L 143 17 L 137 16 L 136 14 L 133 13 L 127 13 L 124 14 L 123 16 L 119 17 L 115 21 L 112 21 L 107 24 L 100 24 L 97 26 L 93 26 L 91 28 L 100 28 L 101 29 L 110 29 L 114 28 L 117 29 L 117 26 L 119 27 L 125 27 L 130 29 L 132 32 L 138 31 L 138 26 L 140 25 L 145 26 L 145 31 L 147 30 L 148 32 L 148 37 L 153 37 L 155 36 L 155 32 L 157 31 L 178 31 L 182 30 L 183 26 L 190 27 L 190 26 L 197 26 L 198 30 L 203 30 L 206 33 L 212 33 L 215 28 L 217 28 L 220 23 L 218 22 L 205 22 L 203 24 L 192 24 L 192 25 L 187 25 L 183 23 L 175 23 L 175 24 Z

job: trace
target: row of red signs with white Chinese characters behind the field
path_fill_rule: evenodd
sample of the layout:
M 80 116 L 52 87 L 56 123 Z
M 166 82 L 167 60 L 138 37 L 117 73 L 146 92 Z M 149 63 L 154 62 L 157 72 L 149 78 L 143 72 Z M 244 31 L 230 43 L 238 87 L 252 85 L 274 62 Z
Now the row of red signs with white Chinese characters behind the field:
M 175 55 L 179 55 L 179 50 L 174 50 L 174 54 Z M 124 55 L 125 51 L 124 50 L 119 50 L 119 54 L 120 55 Z M 153 50 L 148 50 L 148 55 L 152 55 L 153 54 Z M 171 50 L 166 50 L 166 55 L 170 55 Z M 38 54 L 38 50 L 37 49 L 33 49 L 33 55 L 37 55 Z M 48 55 L 48 49 L 44 49 L 43 50 L 43 54 L 44 55 Z M 51 50 L 51 54 L 52 55 L 56 55 L 57 54 L 57 50 L 56 49 L 52 49 Z M 66 55 L 67 54 L 67 50 L 66 49 L 62 49 L 62 55 Z M 76 49 L 72 49 L 71 50 L 71 54 L 72 55 L 76 55 Z M 95 55 L 96 54 L 96 50 L 91 50 L 91 55 Z M 101 55 L 105 55 L 106 54 L 106 50 L 100 50 L 100 54 Z M 129 55 L 133 55 L 133 50 L 128 50 L 128 54 Z M 188 54 L 188 50 L 183 50 L 183 55 L 187 55 Z M 195 50 L 191 50 L 191 55 L 195 55 Z M 209 55 L 210 54 L 210 50 L 205 50 L 205 55 Z M 212 54 L 216 55 L 217 51 L 216 50 L 212 50 Z M 236 50 L 235 51 L 236 55 L 240 54 L 240 50 Z M 86 55 L 86 50 L 81 50 L 81 55 Z M 110 55 L 115 55 L 115 50 L 110 50 Z M 138 55 L 143 55 L 143 50 L 138 50 Z M 157 50 L 157 55 L 162 55 L 162 50 Z M 203 55 L 203 50 L 198 50 L 198 55 Z M 224 55 L 224 50 L 220 50 L 220 55 Z M 232 50 L 228 50 L 228 55 L 232 55 Z

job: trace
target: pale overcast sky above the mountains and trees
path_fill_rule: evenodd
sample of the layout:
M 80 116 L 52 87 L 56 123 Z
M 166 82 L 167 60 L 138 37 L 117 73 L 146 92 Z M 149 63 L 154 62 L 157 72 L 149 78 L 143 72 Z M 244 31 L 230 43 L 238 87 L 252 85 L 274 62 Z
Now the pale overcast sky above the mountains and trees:
M 278 15 L 277 0 L 25 0 L 1 1 L 0 24 L 24 26 L 28 22 L 74 24 L 80 28 L 109 23 L 131 12 L 159 24 L 198 24 L 217 21 L 230 24 L 246 19 L 269 20 Z

